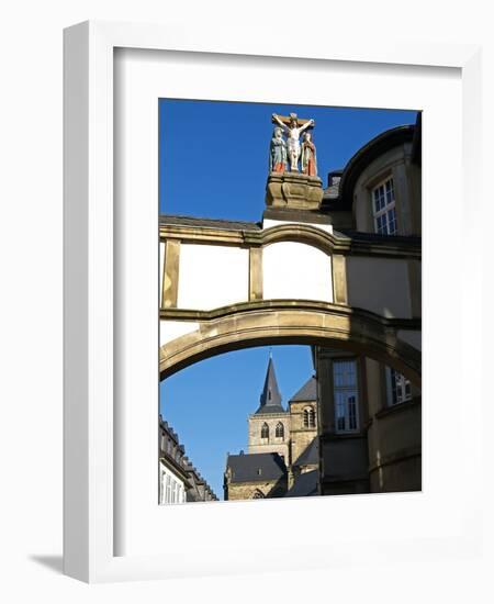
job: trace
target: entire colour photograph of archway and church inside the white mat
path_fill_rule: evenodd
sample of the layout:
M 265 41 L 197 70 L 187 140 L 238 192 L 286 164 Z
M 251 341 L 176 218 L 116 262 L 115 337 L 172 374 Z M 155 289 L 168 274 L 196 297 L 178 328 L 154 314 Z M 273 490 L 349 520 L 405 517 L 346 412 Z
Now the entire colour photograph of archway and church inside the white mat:
M 420 491 L 422 112 L 162 98 L 158 141 L 158 503 Z

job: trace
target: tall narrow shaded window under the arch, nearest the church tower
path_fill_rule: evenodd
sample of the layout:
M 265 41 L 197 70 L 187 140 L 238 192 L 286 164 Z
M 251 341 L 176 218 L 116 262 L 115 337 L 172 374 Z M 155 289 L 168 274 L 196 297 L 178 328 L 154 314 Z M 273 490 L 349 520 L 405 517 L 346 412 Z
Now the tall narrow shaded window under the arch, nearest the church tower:
M 336 432 L 359 429 L 357 365 L 355 360 L 333 363 Z

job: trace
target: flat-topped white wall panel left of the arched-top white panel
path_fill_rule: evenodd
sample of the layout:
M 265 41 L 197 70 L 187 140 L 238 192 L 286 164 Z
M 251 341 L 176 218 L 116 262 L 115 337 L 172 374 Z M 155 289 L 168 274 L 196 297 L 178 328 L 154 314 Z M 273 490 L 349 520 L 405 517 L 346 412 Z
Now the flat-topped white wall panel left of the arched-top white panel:
M 249 253 L 239 247 L 180 246 L 179 309 L 207 311 L 247 302 Z

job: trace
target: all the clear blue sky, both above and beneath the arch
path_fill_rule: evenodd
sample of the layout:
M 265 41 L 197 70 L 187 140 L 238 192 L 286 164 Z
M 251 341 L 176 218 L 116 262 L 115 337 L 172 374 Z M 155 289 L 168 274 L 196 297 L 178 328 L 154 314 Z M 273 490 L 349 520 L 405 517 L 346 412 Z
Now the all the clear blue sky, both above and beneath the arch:
M 161 99 L 160 212 L 259 221 L 265 209 L 271 114 L 313 118 L 323 184 L 371 138 L 415 123 L 415 111 Z M 283 403 L 313 373 L 304 346 L 273 346 Z M 269 348 L 213 357 L 161 382 L 161 413 L 187 455 L 223 499 L 226 454 L 247 449 L 247 416 L 259 404 Z

